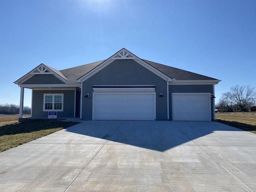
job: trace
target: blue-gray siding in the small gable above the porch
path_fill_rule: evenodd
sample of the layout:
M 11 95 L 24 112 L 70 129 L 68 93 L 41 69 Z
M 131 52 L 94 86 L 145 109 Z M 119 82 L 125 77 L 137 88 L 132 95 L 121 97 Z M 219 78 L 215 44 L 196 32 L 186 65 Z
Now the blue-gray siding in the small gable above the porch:
M 34 75 L 22 84 L 65 84 L 52 74 Z

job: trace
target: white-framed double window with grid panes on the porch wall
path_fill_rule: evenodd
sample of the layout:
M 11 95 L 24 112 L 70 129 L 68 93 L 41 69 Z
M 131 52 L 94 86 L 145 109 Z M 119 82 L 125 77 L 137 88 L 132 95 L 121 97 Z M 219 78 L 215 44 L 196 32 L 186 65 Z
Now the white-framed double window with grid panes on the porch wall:
M 43 111 L 63 111 L 63 94 L 44 94 Z

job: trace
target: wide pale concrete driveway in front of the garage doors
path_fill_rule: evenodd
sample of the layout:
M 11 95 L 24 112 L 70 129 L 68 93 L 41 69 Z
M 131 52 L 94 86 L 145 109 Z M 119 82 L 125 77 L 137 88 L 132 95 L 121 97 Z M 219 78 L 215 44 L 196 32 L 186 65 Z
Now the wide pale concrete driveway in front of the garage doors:
M 256 134 L 218 122 L 81 121 L 0 153 L 0 191 L 256 191 Z

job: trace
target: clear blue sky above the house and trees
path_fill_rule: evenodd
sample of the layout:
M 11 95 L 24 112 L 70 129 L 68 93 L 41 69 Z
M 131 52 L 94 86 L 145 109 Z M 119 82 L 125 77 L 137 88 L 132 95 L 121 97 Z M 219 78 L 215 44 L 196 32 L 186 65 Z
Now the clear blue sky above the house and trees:
M 255 10 L 255 0 L 1 0 L 0 104 L 19 104 L 13 82 L 41 63 L 62 70 L 122 48 L 222 80 L 218 101 L 231 86 L 256 86 Z

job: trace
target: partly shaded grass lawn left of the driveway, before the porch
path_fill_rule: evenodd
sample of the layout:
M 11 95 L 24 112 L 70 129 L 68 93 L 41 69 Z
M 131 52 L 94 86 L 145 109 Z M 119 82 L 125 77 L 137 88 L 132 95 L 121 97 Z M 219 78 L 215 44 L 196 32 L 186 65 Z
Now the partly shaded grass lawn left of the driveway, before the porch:
M 48 119 L 18 122 L 17 115 L 0 115 L 0 152 L 78 123 Z

